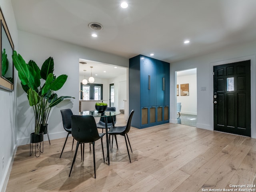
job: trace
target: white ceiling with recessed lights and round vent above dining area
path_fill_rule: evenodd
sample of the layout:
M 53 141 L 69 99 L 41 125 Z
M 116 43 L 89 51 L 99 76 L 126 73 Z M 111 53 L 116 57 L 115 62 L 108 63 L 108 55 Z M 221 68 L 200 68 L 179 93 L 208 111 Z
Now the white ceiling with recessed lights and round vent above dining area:
M 256 40 L 256 0 L 11 1 L 18 30 L 125 58 L 174 62 Z M 97 38 L 90 22 L 103 26 Z

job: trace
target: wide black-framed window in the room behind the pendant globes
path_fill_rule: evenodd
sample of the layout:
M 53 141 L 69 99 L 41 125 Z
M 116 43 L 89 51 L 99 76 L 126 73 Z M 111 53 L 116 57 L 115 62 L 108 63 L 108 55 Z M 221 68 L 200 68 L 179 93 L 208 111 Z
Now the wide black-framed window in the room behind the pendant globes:
M 103 100 L 103 84 L 88 83 L 83 85 L 81 83 L 81 90 L 83 91 L 84 100 Z

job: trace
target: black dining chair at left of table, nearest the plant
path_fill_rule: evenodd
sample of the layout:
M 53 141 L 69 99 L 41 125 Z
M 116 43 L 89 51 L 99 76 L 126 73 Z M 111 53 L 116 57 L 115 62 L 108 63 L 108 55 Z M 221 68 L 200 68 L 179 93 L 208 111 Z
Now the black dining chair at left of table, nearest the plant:
M 68 136 L 69 136 L 69 134 L 71 134 L 71 116 L 73 115 L 73 112 L 71 109 L 62 109 L 62 110 L 60 110 L 60 112 L 61 112 L 61 116 L 62 116 L 63 128 L 64 128 L 64 130 L 66 130 L 66 132 L 68 132 L 64 146 L 63 146 L 61 154 L 60 154 L 60 158 L 61 158 L 64 147 L 68 140 Z M 74 145 L 74 138 L 73 138 L 73 142 L 72 142 L 72 149 L 73 149 L 73 145 Z

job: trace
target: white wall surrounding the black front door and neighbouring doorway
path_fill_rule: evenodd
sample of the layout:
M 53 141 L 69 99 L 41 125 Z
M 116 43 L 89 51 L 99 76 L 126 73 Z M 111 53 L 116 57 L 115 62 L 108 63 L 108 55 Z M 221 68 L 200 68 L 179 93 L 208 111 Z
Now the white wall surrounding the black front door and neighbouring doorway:
M 198 128 L 213 130 L 213 66 L 240 60 L 251 60 L 251 123 L 252 138 L 256 138 L 256 42 L 220 49 L 170 65 L 170 122 L 176 122 L 176 71 L 197 68 L 197 124 Z M 201 91 L 206 87 L 206 91 Z

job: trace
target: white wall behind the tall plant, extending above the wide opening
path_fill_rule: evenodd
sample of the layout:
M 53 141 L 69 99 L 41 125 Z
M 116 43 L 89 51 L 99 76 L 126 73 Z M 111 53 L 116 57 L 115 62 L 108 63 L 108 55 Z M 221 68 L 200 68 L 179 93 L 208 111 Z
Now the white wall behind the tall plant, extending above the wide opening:
M 110 63 L 117 66 L 128 67 L 129 60 L 113 54 L 92 50 L 76 46 L 66 42 L 30 34 L 23 31 L 18 31 L 19 52 L 24 60 L 28 62 L 34 60 L 38 66 L 46 58 L 52 56 L 54 59 L 54 74 L 67 74 L 68 79 L 62 89 L 56 93 L 58 96 L 73 96 L 75 99 L 63 101 L 52 110 L 52 115 L 48 121 L 48 131 L 50 139 L 63 138 L 66 132 L 62 126 L 60 109 L 71 108 L 74 113 L 79 110 L 79 58 L 86 58 L 96 62 Z M 98 82 L 97 80 L 95 81 Z M 107 87 L 106 87 L 107 89 Z M 104 88 L 105 90 L 105 88 Z M 29 143 L 29 135 L 34 129 L 34 115 L 32 108 L 28 104 L 26 94 L 18 84 L 18 144 Z

